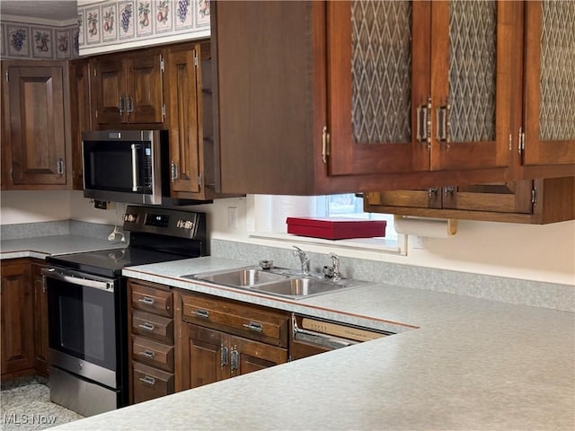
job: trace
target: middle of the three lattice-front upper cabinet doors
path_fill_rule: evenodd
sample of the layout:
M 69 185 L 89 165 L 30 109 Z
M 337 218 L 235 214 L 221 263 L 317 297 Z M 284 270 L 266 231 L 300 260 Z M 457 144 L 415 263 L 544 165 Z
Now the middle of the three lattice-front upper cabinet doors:
M 520 2 L 433 2 L 431 170 L 510 162 Z

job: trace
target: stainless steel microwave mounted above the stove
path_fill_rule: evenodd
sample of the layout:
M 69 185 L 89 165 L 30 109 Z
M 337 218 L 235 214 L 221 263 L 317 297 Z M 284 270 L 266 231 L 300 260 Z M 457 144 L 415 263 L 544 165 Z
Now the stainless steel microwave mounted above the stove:
M 85 198 L 161 205 L 169 194 L 167 130 L 84 132 L 82 158 Z

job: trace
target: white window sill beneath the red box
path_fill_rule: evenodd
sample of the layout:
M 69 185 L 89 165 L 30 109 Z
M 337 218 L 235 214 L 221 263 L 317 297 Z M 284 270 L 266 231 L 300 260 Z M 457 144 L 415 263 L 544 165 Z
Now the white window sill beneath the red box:
M 332 249 L 337 247 L 344 250 L 355 251 L 376 251 L 389 254 L 406 255 L 407 236 L 399 235 L 397 241 L 386 240 L 385 238 L 356 238 L 353 240 L 323 240 L 308 236 L 298 236 L 292 233 L 276 232 L 249 232 L 248 236 L 254 239 L 273 240 L 277 242 L 296 242 L 299 244 L 313 244 L 315 246 L 325 246 Z

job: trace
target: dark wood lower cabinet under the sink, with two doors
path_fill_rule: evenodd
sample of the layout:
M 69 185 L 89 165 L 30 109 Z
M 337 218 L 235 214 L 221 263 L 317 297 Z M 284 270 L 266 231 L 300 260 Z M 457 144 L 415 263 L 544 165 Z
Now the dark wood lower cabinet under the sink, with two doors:
M 176 391 L 288 362 L 287 313 L 179 291 L 174 303 Z

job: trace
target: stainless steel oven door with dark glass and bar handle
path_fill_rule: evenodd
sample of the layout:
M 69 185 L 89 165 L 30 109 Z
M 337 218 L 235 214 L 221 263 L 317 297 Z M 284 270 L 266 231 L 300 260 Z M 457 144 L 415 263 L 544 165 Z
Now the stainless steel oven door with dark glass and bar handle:
M 70 373 L 118 386 L 116 280 L 66 268 L 45 268 L 49 361 Z

